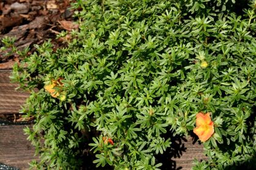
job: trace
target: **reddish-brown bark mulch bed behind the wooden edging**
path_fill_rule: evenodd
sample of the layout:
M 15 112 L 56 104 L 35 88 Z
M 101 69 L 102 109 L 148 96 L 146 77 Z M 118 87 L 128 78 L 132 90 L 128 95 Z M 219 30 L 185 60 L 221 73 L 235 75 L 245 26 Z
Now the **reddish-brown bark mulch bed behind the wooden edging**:
M 55 48 L 62 45 L 56 40 L 56 34 L 62 30 L 78 29 L 72 20 L 73 11 L 69 9 L 70 0 L 4 0 L 0 1 L 0 40 L 15 37 L 15 47 L 23 50 L 30 47 L 28 54 L 41 44 L 53 39 Z M 0 47 L 2 43 L 0 42 Z M 8 53 L 10 52 L 10 53 Z M 18 59 L 17 59 L 18 58 Z M 20 60 L 11 48 L 0 50 L 0 69 L 11 69 L 15 61 Z

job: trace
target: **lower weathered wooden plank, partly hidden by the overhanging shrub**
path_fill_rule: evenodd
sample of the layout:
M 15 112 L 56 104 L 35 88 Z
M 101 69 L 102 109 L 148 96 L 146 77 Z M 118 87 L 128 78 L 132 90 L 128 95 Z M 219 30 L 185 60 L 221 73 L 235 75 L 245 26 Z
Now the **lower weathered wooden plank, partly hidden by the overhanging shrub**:
M 28 169 L 34 157 L 34 147 L 26 140 L 23 128 L 26 125 L 4 125 L 0 126 L 0 162 L 19 169 Z M 29 125 L 31 127 L 31 125 Z M 206 160 L 203 155 L 203 145 L 194 141 L 194 138 L 178 138 L 172 140 L 171 147 L 164 155 L 159 155 L 160 162 L 163 163 L 161 169 L 182 169 L 192 168 L 193 160 Z M 92 164 L 92 163 L 90 163 Z M 86 169 L 83 167 L 83 169 Z M 92 168 L 97 169 L 97 168 Z M 108 168 L 106 168 L 108 170 Z

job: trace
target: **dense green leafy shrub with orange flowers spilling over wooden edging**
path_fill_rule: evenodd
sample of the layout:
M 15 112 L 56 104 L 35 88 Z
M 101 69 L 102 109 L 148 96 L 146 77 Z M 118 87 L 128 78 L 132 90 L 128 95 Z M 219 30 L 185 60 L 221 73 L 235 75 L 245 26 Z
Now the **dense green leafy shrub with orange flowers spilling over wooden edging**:
M 194 169 L 252 162 L 255 6 L 78 0 L 79 29 L 58 35 L 67 45 L 35 45 L 13 67 L 13 81 L 31 92 L 23 112 L 36 117 L 25 129 L 40 155 L 32 167 L 78 169 L 90 142 L 96 166 L 161 169 L 165 136 L 194 133 L 208 156 Z

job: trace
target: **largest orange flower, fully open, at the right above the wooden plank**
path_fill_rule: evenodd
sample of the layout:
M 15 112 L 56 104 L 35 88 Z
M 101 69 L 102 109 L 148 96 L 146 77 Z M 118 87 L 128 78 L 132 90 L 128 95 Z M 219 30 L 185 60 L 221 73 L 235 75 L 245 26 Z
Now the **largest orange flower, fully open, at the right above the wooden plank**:
M 211 138 L 214 133 L 214 124 L 209 113 L 198 113 L 195 124 L 197 127 L 195 127 L 193 131 L 202 142 Z

